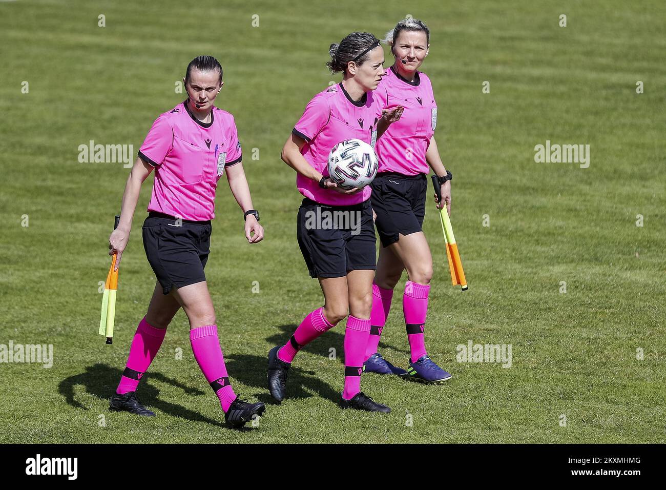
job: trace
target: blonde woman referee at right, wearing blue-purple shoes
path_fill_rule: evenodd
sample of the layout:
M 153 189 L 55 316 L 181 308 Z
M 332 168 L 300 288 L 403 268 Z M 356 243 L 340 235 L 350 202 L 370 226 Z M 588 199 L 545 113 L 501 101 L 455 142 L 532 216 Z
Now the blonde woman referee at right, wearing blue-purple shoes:
M 432 169 L 438 175 L 444 201 L 438 207 L 446 203 L 449 212 L 452 175 L 442 164 L 434 138 L 438 108 L 432 85 L 428 76 L 418 71 L 428 56 L 430 30 L 422 21 L 404 19 L 387 33 L 386 43 L 395 61 L 377 97 L 386 108 L 404 106 L 404 113 L 376 147 L 379 169 L 371 183 L 371 199 L 381 246 L 372 285 L 372 331 L 364 366 L 370 373 L 441 383 L 451 375 L 430 359 L 424 344 L 432 256 L 421 227 L 426 213 L 426 174 Z M 377 352 L 393 289 L 405 269 L 408 281 L 402 310 L 411 354 L 407 371 L 394 367 Z

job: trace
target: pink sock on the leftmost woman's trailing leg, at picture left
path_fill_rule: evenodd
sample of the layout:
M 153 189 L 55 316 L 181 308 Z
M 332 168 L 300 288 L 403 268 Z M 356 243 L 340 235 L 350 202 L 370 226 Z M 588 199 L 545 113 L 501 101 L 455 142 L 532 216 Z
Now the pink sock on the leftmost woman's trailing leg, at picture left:
M 157 351 L 160 350 L 165 334 L 166 329 L 156 329 L 148 324 L 146 317 L 141 319 L 137 327 L 137 333 L 134 334 L 132 339 L 127 365 L 116 393 L 125 395 L 130 391 L 137 391 L 139 381 L 155 359 Z

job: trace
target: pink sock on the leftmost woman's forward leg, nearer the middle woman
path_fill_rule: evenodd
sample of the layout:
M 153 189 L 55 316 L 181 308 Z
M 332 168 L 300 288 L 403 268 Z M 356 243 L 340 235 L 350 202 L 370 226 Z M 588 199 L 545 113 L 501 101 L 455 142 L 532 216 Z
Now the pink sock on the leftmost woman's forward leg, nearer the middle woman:
M 217 325 L 207 325 L 190 330 L 190 343 L 194 359 L 210 383 L 212 391 L 220 399 L 222 410 L 228 411 L 229 406 L 236 399 L 236 393 L 229 384 L 226 374 L 220 339 L 217 336 Z

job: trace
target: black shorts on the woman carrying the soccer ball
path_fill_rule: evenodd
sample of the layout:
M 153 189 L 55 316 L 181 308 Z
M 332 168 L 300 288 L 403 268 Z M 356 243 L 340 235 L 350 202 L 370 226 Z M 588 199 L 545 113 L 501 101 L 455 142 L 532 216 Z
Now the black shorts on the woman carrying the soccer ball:
M 298 208 L 298 246 L 310 277 L 344 277 L 377 268 L 370 199 L 329 206 L 305 198 Z

